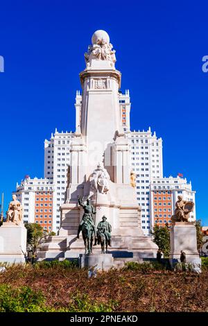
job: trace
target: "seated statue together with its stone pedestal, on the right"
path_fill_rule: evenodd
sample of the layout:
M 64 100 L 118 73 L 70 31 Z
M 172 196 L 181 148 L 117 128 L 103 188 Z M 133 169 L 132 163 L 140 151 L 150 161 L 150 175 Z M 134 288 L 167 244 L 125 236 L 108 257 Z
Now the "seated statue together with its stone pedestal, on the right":
M 181 253 L 184 252 L 187 264 L 193 264 L 193 268 L 200 268 L 201 259 L 197 250 L 196 227 L 189 221 L 189 214 L 193 211 L 194 203 L 177 197 L 175 214 L 171 217 L 171 264 L 180 261 Z

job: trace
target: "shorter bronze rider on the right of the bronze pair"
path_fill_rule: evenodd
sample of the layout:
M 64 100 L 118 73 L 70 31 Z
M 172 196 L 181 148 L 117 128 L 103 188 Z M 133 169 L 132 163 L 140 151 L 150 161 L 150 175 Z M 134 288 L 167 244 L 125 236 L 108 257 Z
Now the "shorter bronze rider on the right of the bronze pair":
M 107 245 L 111 246 L 112 226 L 106 220 L 107 217 L 103 215 L 102 221 L 98 223 L 96 232 L 96 243 L 101 244 L 102 253 L 107 252 Z

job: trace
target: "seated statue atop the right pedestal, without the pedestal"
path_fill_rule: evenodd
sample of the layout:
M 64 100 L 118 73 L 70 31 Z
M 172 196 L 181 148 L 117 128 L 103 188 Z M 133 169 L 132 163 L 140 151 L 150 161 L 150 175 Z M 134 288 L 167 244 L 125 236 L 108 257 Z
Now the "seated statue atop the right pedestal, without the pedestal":
M 194 203 L 182 199 L 182 196 L 177 196 L 178 200 L 175 203 L 175 214 L 171 217 L 172 222 L 187 222 L 189 215 L 193 212 Z

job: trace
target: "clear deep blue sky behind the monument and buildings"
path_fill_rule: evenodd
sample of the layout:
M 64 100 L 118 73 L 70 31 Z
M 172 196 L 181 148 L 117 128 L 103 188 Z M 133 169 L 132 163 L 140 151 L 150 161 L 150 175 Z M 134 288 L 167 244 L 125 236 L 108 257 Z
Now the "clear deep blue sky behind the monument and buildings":
M 44 139 L 74 130 L 83 53 L 97 29 L 110 34 L 130 89 L 131 128 L 164 143 L 164 175 L 191 180 L 208 225 L 208 3 L 203 1 L 0 1 L 0 192 L 6 208 L 24 175 L 43 177 Z

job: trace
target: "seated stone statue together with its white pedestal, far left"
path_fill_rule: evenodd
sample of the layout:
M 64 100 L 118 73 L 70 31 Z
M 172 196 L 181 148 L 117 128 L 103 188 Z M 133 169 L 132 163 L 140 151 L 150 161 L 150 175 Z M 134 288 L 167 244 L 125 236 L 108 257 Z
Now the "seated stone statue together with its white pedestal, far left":
M 0 261 L 8 263 L 23 263 L 26 253 L 27 231 L 22 220 L 22 207 L 16 195 L 6 213 L 7 220 L 0 228 Z

